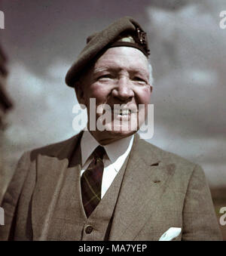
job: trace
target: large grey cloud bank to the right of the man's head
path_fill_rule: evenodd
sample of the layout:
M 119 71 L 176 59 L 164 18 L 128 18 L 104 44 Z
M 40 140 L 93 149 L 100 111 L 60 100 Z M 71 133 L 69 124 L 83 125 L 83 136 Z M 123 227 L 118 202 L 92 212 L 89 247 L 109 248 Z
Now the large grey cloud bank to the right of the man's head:
M 226 33 L 215 18 L 223 2 L 216 5 L 148 9 L 155 80 L 149 141 L 202 165 L 209 184 L 225 187 Z

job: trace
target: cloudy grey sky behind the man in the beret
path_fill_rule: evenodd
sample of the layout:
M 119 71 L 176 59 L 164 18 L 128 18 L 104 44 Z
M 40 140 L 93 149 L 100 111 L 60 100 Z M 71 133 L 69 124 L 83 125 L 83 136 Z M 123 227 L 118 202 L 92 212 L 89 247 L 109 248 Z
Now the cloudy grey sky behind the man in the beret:
M 150 143 L 202 165 L 211 187 L 226 187 L 225 0 L 1 0 L 14 102 L 5 131 L 6 172 L 23 153 L 65 140 L 77 102 L 66 72 L 90 33 L 125 15 L 148 32 L 153 66 Z

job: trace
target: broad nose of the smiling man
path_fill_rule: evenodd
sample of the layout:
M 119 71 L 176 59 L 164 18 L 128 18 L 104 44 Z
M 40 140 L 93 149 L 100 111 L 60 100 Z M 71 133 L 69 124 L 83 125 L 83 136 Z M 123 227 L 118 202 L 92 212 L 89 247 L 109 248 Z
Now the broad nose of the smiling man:
M 112 96 L 118 97 L 120 100 L 128 100 L 134 96 L 133 87 L 130 79 L 121 77 L 118 79 L 118 85 L 113 89 Z

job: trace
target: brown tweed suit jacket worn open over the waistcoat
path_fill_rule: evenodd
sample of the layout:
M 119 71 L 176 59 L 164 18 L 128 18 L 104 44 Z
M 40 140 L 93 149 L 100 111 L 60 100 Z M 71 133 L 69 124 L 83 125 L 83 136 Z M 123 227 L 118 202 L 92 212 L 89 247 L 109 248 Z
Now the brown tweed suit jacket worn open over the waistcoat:
M 81 159 L 72 161 L 81 134 L 23 154 L 2 200 L 0 240 L 17 240 L 19 229 L 25 240 L 44 239 L 38 234 L 48 232 L 66 170 L 81 168 Z M 221 240 L 202 168 L 136 134 L 108 239 L 158 240 L 170 227 L 182 229 L 176 240 Z

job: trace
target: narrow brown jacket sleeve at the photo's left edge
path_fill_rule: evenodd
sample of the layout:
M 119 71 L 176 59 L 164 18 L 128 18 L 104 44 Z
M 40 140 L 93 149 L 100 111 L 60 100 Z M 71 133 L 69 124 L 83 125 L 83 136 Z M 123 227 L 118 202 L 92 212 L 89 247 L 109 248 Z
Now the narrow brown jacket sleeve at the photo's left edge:
M 1 207 L 4 209 L 5 225 L 0 226 L 0 241 L 8 240 L 14 233 L 14 221 L 16 221 L 17 204 L 20 199 L 20 193 L 29 170 L 30 154 L 24 153 L 21 156 L 14 176 L 2 199 Z

